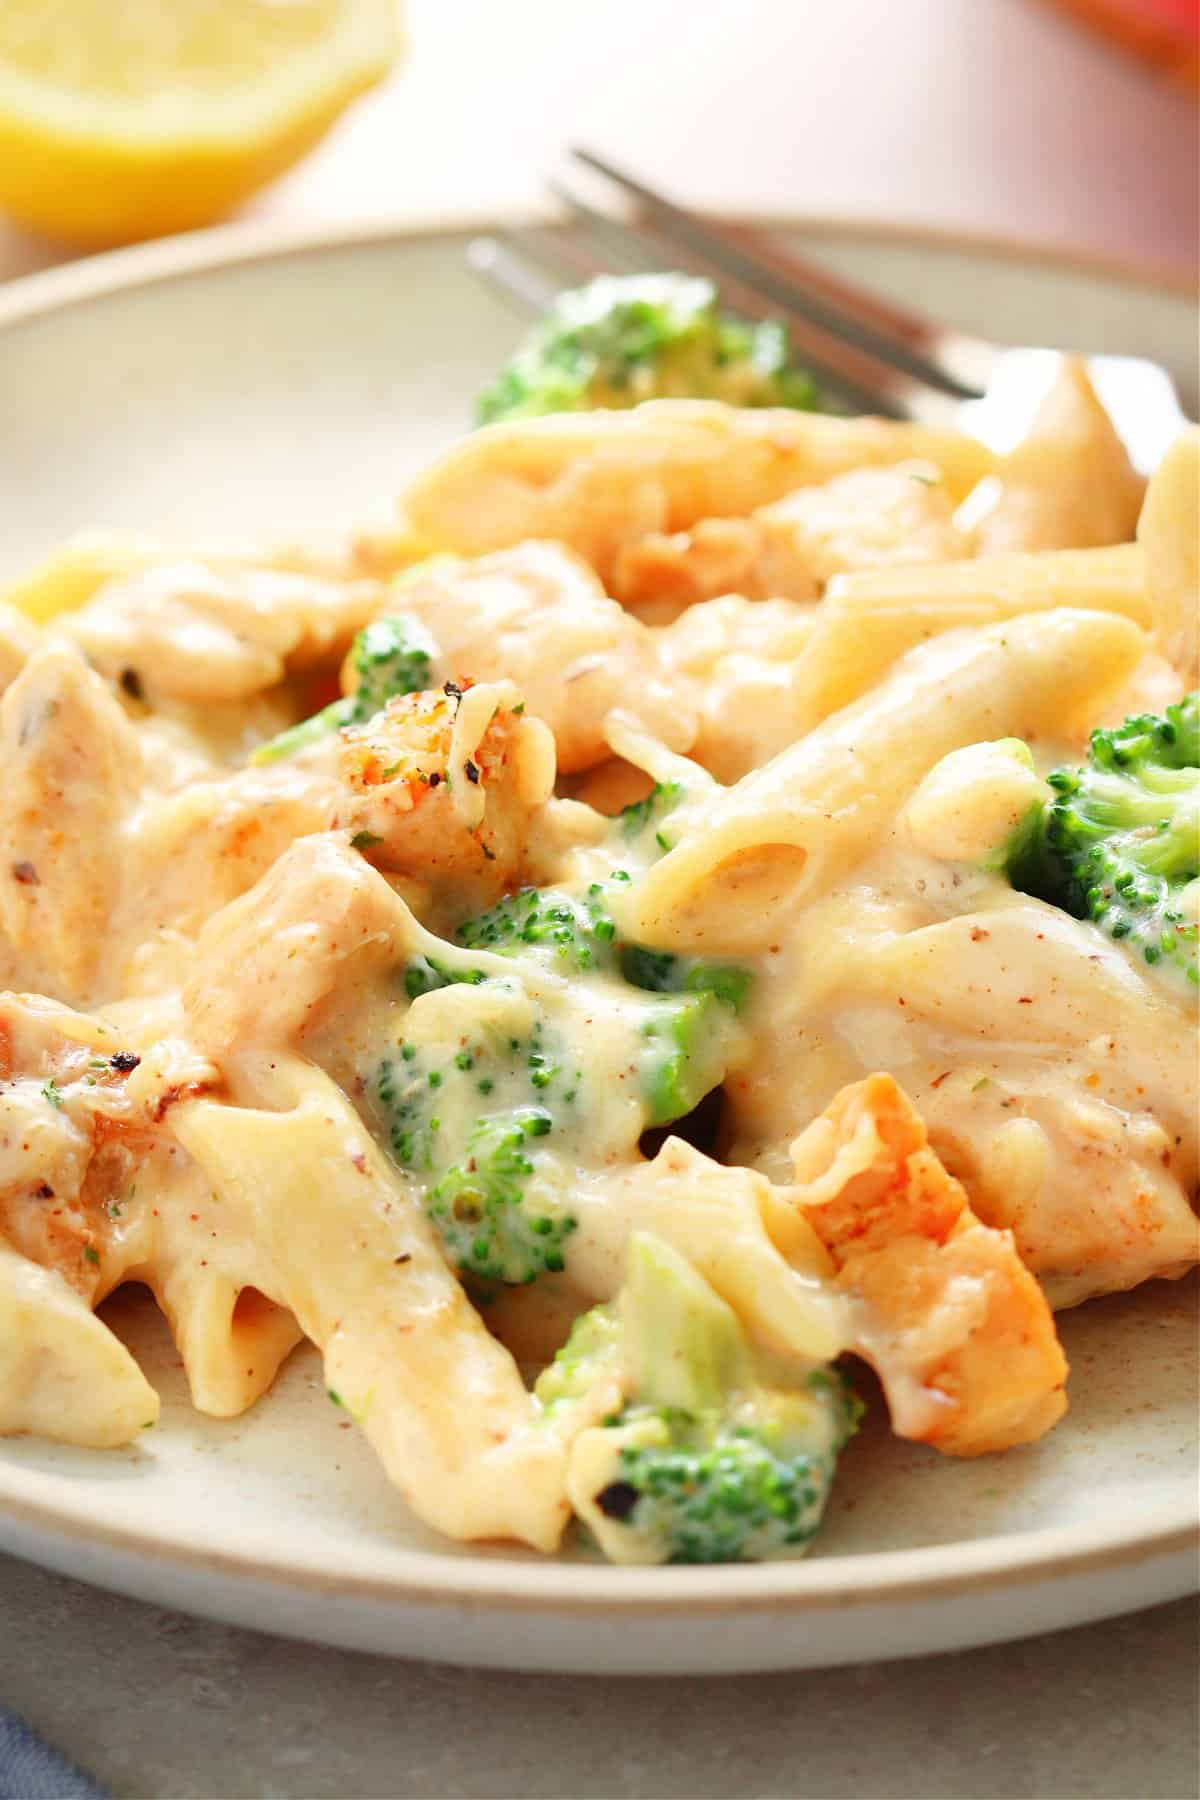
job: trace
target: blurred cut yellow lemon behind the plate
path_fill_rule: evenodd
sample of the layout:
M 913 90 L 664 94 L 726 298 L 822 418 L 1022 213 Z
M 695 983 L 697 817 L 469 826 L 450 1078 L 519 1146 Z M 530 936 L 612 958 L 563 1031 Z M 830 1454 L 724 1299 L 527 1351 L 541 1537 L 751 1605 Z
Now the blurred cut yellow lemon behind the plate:
M 398 0 L 2 0 L 0 209 L 88 248 L 210 225 L 398 52 Z

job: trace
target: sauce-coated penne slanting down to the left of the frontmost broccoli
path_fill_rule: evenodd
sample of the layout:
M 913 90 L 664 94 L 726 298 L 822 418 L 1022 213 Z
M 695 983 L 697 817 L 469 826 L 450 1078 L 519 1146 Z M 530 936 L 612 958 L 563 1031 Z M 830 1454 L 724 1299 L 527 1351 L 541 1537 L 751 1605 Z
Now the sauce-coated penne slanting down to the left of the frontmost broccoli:
M 250 1085 L 279 1111 L 196 1100 L 173 1130 L 254 1233 L 336 1404 L 439 1530 L 552 1550 L 569 1516 L 561 1447 L 538 1433 L 516 1364 L 403 1177 L 317 1069 L 282 1060 Z

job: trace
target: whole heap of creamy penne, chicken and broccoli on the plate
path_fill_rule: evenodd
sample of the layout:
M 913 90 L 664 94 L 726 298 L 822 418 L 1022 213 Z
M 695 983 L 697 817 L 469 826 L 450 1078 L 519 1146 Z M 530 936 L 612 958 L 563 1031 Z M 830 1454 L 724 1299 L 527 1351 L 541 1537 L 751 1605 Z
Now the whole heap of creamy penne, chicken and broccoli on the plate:
M 1137 522 L 1070 365 L 1006 457 L 651 401 L 18 581 L 0 1433 L 155 1422 L 126 1282 L 214 1418 L 313 1346 L 464 1541 L 801 1553 L 855 1357 L 945 1454 L 1051 1429 L 1052 1307 L 1200 1262 L 1198 443 Z

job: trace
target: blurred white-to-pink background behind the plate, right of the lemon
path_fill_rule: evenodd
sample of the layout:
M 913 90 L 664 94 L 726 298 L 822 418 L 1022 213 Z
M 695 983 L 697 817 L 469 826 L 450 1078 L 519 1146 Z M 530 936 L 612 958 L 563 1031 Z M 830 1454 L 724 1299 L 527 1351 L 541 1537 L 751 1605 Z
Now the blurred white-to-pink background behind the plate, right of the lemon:
M 1135 4 L 1195 11 L 1121 11 Z M 693 205 L 1022 239 L 1187 279 L 1196 106 L 1074 16 L 1117 5 L 408 0 L 394 76 L 241 216 L 511 216 L 542 202 L 560 148 L 587 140 Z M 61 256 L 0 225 L 0 274 Z

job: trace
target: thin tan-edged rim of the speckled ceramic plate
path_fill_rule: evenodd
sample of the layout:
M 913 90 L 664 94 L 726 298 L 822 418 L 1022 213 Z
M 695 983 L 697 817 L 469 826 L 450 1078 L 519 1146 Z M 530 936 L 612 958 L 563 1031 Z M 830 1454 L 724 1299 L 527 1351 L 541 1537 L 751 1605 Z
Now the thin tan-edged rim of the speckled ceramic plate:
M 529 218 L 529 214 L 524 214 Z M 1114 265 L 1105 257 L 1022 245 L 984 234 L 878 223 L 873 220 L 820 216 L 765 216 L 766 227 L 804 230 L 813 238 L 874 238 L 898 245 L 930 245 L 968 256 L 1004 257 L 1047 270 L 1094 275 L 1144 293 L 1189 299 L 1189 284 L 1157 270 Z M 356 221 L 344 227 L 227 225 L 131 248 L 112 250 L 61 268 L 23 275 L 0 288 L 0 331 L 47 313 L 128 290 L 185 279 L 264 259 L 318 256 L 392 241 L 457 238 L 495 229 L 488 220 L 455 218 L 421 221 L 408 229 L 394 220 Z M 1061 1577 L 1101 1575 L 1144 1562 L 1195 1561 L 1200 1586 L 1200 1494 L 1195 1501 L 1164 1503 L 1150 1512 L 1105 1519 L 1096 1525 L 1045 1526 L 986 1539 L 932 1544 L 741 1568 L 639 1570 L 579 1562 L 525 1561 L 500 1555 L 448 1557 L 437 1552 L 390 1548 L 340 1552 L 336 1562 L 295 1546 L 286 1557 L 254 1550 L 198 1548 L 187 1535 L 173 1534 L 164 1521 L 153 1534 L 99 1523 L 88 1498 L 67 1503 L 52 1492 L 58 1480 L 5 1469 L 0 1516 L 27 1535 L 25 1553 L 54 1544 L 110 1550 L 135 1557 L 151 1570 L 185 1568 L 214 1579 L 252 1579 L 259 1586 L 306 1591 L 349 1600 L 446 1606 L 470 1602 L 518 1604 L 531 1613 L 570 1613 L 587 1618 L 619 1613 L 678 1615 L 718 1613 L 829 1613 L 862 1606 L 903 1606 L 916 1600 L 955 1598 L 997 1586 L 1016 1588 Z M 18 1546 L 13 1546 L 18 1548 Z M 387 1573 L 380 1573 L 380 1561 Z M 1182 1584 L 1178 1591 L 1184 1591 Z

